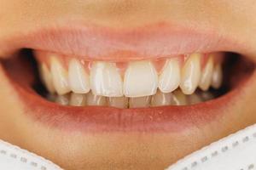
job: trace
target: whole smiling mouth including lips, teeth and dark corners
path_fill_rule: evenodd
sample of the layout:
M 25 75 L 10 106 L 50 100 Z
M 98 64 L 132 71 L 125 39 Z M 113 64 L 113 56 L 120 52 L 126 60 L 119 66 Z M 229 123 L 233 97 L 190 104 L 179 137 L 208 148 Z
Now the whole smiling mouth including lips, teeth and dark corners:
M 234 42 L 218 44 L 208 33 L 214 37 L 210 43 L 198 32 L 175 31 L 165 35 L 177 37 L 176 43 L 169 36 L 160 41 L 163 35 L 154 31 L 147 36 L 103 31 L 113 41 L 95 32 L 71 38 L 70 31 L 63 36 L 39 31 L 44 41 L 26 35 L 3 48 L 2 65 L 26 114 L 38 122 L 89 132 L 177 131 L 211 122 L 239 103 L 255 66 Z M 188 37 L 180 36 L 183 32 Z M 138 43 L 127 35 L 143 36 Z M 69 46 L 67 37 L 79 45 Z M 147 43 L 154 38 L 159 41 Z M 61 44 L 49 45 L 51 39 Z

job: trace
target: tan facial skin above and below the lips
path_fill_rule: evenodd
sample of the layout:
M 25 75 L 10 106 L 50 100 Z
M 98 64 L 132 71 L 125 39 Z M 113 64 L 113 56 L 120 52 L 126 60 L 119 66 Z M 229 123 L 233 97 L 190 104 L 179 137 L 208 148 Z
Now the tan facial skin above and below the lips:
M 211 27 L 256 47 L 256 2 L 247 1 L 0 1 L 0 42 L 38 26 L 78 20 L 114 29 L 151 23 Z M 252 52 L 253 50 L 251 50 Z M 256 57 L 256 52 L 250 56 Z M 206 144 L 256 122 L 256 88 L 245 88 L 239 105 L 224 116 L 170 133 L 81 133 L 47 127 L 27 117 L 0 67 L 0 138 L 65 169 L 163 169 Z M 253 76 L 249 83 L 255 84 Z M 234 114 L 236 113 L 236 114 Z

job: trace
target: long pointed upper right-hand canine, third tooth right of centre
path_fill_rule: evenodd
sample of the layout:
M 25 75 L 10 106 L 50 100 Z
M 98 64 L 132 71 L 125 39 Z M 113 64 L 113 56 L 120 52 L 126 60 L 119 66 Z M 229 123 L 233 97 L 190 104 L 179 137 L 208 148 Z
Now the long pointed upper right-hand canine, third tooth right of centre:
M 191 54 L 182 69 L 180 88 L 183 94 L 193 94 L 201 78 L 201 54 Z

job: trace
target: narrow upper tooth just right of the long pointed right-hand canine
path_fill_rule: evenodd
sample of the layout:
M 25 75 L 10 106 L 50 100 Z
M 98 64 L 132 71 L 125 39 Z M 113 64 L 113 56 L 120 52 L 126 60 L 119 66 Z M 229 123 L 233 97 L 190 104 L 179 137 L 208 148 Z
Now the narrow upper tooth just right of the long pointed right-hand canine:
M 204 71 L 202 71 L 201 81 L 199 83 L 199 87 L 203 91 L 207 91 L 211 85 L 212 72 L 213 72 L 213 57 L 210 56 L 209 59 L 207 60 L 207 65 L 205 66 Z

